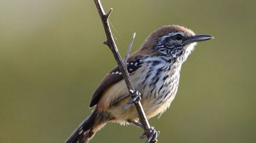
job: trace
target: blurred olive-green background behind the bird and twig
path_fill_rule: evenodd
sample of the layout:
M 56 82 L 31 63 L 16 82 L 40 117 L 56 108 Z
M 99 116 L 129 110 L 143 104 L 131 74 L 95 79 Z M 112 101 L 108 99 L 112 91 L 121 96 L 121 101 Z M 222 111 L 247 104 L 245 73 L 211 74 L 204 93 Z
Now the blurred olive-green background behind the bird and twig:
M 102 0 L 119 51 L 164 25 L 214 40 L 183 64 L 170 109 L 150 124 L 159 143 L 256 142 L 256 1 Z M 116 63 L 92 0 L 0 1 L 0 142 L 62 143 L 89 115 Z M 123 39 L 123 40 L 122 40 Z M 141 143 L 141 129 L 109 123 L 90 143 Z

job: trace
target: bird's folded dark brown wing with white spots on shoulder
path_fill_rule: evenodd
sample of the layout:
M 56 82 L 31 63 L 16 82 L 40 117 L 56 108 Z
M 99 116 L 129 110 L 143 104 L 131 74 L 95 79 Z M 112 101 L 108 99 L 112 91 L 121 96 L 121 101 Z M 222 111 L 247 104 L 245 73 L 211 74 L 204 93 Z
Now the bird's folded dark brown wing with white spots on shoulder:
M 136 71 L 138 68 L 141 67 L 141 64 L 143 63 L 143 61 L 140 58 L 141 56 L 136 53 L 132 54 L 128 58 L 127 69 L 129 74 L 133 73 L 134 71 Z M 100 97 L 106 88 L 108 88 L 110 85 L 117 83 L 121 80 L 123 80 L 123 75 L 120 73 L 119 67 L 116 66 L 109 72 L 109 74 L 105 76 L 105 78 L 100 82 L 96 91 L 93 93 L 91 97 L 90 107 L 93 107 L 94 105 L 98 104 Z

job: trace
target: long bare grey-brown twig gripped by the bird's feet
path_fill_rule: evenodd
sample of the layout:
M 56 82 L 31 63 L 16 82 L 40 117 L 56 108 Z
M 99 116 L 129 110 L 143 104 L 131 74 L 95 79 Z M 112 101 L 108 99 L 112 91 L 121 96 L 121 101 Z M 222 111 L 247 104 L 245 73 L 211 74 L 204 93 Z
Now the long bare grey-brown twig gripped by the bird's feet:
M 113 39 L 111 30 L 110 30 L 110 27 L 109 27 L 108 18 L 109 18 L 110 13 L 112 12 L 112 9 L 109 10 L 108 14 L 105 14 L 105 12 L 103 10 L 103 7 L 100 3 L 100 0 L 94 0 L 94 3 L 97 7 L 97 10 L 98 10 L 99 14 L 100 14 L 100 18 L 101 18 L 101 21 L 102 21 L 102 24 L 103 24 L 103 27 L 104 27 L 104 30 L 105 30 L 105 33 L 106 33 L 106 36 L 107 36 L 107 42 L 104 42 L 104 44 L 107 44 L 109 46 L 111 52 L 113 53 L 114 58 L 117 61 L 117 64 L 119 66 L 119 69 L 120 69 L 120 71 L 121 71 L 121 73 L 124 77 L 124 80 L 125 80 L 125 83 L 127 85 L 128 91 L 132 95 L 132 94 L 135 93 L 135 88 L 134 88 L 133 84 L 131 83 L 127 68 L 125 67 L 124 62 L 123 62 L 123 60 L 122 60 L 122 58 L 121 58 L 121 56 L 118 52 L 117 46 L 115 44 L 115 41 Z M 150 129 L 150 125 L 147 121 L 147 117 L 146 117 L 145 112 L 142 108 L 141 102 L 140 101 L 134 102 L 134 105 L 137 109 L 138 117 L 139 117 L 140 123 L 143 126 L 144 131 L 148 131 Z M 149 138 L 149 136 L 147 136 L 147 138 Z M 156 141 L 150 141 L 150 143 L 156 143 Z

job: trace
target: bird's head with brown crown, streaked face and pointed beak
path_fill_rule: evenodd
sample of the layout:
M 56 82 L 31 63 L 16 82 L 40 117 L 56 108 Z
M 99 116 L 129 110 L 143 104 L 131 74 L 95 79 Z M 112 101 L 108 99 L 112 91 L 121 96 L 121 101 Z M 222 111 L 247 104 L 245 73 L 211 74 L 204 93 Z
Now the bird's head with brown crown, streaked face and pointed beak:
M 196 42 L 213 39 L 210 35 L 195 35 L 182 26 L 168 25 L 151 33 L 141 50 L 151 56 L 161 56 L 168 62 L 184 62 L 194 49 Z

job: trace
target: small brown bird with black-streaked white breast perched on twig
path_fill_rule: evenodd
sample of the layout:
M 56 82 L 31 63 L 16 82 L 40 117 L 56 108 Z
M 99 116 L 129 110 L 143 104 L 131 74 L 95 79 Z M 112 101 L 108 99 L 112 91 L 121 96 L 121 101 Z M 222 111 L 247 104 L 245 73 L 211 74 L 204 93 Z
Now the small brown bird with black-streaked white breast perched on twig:
M 140 49 L 130 55 L 127 70 L 131 82 L 141 93 L 141 104 L 147 118 L 162 114 L 170 106 L 178 89 L 182 63 L 193 51 L 196 42 L 213 39 L 210 35 L 195 35 L 190 29 L 169 25 L 152 32 Z M 120 124 L 139 120 L 128 89 L 118 67 L 113 68 L 93 93 L 91 114 L 65 141 L 84 143 L 107 122 Z

